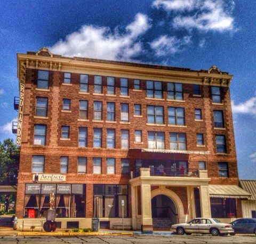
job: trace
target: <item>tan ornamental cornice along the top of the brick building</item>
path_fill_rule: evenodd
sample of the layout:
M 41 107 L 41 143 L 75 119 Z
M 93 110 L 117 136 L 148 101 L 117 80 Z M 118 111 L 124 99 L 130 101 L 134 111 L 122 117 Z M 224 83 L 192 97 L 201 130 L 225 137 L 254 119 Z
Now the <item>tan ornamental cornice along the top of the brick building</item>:
M 140 67 L 129 63 L 111 61 L 83 60 L 61 56 L 33 54 L 17 54 L 19 82 L 25 83 L 26 69 L 42 69 L 50 71 L 76 72 L 78 74 L 104 75 L 162 82 L 180 82 L 185 84 L 213 85 L 228 87 L 233 76 L 222 73 L 213 66 L 208 71 L 172 70 L 154 67 Z M 159 66 L 160 67 L 160 66 Z

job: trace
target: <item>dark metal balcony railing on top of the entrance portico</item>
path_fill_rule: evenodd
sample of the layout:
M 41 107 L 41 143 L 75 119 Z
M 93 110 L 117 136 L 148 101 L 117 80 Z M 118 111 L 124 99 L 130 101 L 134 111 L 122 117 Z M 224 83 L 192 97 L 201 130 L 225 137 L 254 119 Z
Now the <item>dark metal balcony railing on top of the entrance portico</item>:
M 187 176 L 198 177 L 198 170 L 196 168 L 163 168 L 163 167 L 149 167 L 150 176 Z M 133 172 L 133 177 L 140 176 L 140 168 L 136 168 Z

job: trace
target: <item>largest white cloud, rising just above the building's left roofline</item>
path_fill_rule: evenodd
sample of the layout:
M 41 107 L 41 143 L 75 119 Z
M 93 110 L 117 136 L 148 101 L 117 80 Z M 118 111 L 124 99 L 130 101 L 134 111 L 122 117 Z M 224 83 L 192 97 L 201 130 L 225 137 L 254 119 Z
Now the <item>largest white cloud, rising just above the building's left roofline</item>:
M 138 13 L 132 23 L 121 33 L 118 27 L 82 26 L 81 29 L 59 40 L 51 52 L 64 56 L 86 56 L 108 60 L 132 60 L 143 52 L 139 38 L 151 27 L 145 14 Z

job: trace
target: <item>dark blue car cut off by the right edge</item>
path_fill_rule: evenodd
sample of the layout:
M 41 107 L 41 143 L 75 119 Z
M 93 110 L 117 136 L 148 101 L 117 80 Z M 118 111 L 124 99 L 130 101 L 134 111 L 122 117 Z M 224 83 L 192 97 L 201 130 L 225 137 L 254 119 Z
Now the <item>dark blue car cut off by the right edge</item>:
M 255 234 L 256 218 L 239 218 L 230 223 L 233 226 L 234 234 Z

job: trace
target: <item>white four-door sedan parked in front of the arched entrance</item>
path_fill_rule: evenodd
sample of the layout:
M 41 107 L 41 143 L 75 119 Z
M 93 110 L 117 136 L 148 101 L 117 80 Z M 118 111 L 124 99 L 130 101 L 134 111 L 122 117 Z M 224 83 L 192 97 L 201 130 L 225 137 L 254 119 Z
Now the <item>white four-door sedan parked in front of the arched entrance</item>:
M 172 225 L 171 230 L 180 235 L 200 233 L 217 236 L 234 233 L 232 225 L 221 223 L 215 218 L 194 218 L 188 223 Z

